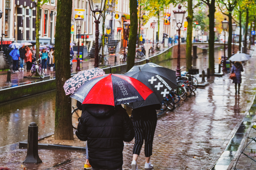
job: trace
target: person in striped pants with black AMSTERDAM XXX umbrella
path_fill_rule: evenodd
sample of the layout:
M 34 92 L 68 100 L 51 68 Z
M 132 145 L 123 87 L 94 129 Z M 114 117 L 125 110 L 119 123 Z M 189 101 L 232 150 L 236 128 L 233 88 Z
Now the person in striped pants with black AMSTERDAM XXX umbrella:
M 132 107 L 132 124 L 135 131 L 135 144 L 133 146 L 132 170 L 137 170 L 137 159 L 145 140 L 145 169 L 153 168 L 150 162 L 153 139 L 157 123 L 156 110 L 160 109 L 160 102 L 177 88 L 176 72 L 154 63 L 133 66 L 125 75 L 136 78 L 147 85 L 154 93 L 150 94 L 144 102 L 133 102 L 127 106 Z

